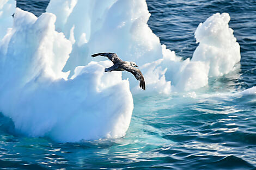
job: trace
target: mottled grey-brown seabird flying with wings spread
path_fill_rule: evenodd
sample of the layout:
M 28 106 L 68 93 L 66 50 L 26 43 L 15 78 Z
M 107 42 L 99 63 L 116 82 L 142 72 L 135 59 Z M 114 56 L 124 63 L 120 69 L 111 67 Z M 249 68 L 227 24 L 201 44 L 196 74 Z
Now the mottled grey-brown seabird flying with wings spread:
M 138 67 L 135 62 L 133 61 L 123 61 L 121 60 L 117 54 L 115 53 L 97 53 L 93 54 L 92 57 L 95 56 L 106 56 L 109 60 L 113 62 L 113 66 L 105 68 L 105 72 L 111 72 L 111 71 L 127 71 L 132 73 L 137 80 L 139 80 L 139 87 L 141 87 L 143 90 L 146 90 L 145 86 L 145 80 L 143 77 L 142 72 L 136 68 Z

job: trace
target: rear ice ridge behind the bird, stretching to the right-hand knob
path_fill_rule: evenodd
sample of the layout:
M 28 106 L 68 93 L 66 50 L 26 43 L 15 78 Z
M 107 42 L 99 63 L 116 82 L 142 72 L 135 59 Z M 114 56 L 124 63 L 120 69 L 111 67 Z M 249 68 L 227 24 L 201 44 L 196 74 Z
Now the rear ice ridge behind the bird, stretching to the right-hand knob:
M 63 2 L 63 1 L 62 1 Z M 145 75 L 148 92 L 191 91 L 208 85 L 209 77 L 234 70 L 240 61 L 240 46 L 229 28 L 229 14 L 215 14 L 200 23 L 195 37 L 199 43 L 190 61 L 181 61 L 166 49 L 149 28 L 149 11 L 144 0 L 52 0 L 46 11 L 57 16 L 56 27 L 73 43 L 64 70 L 92 61 L 93 53 L 115 52 L 123 60 L 136 61 Z M 170 30 L 171 31 L 171 30 Z M 99 61 L 103 58 L 94 58 Z M 132 75 L 133 93 L 139 90 Z

